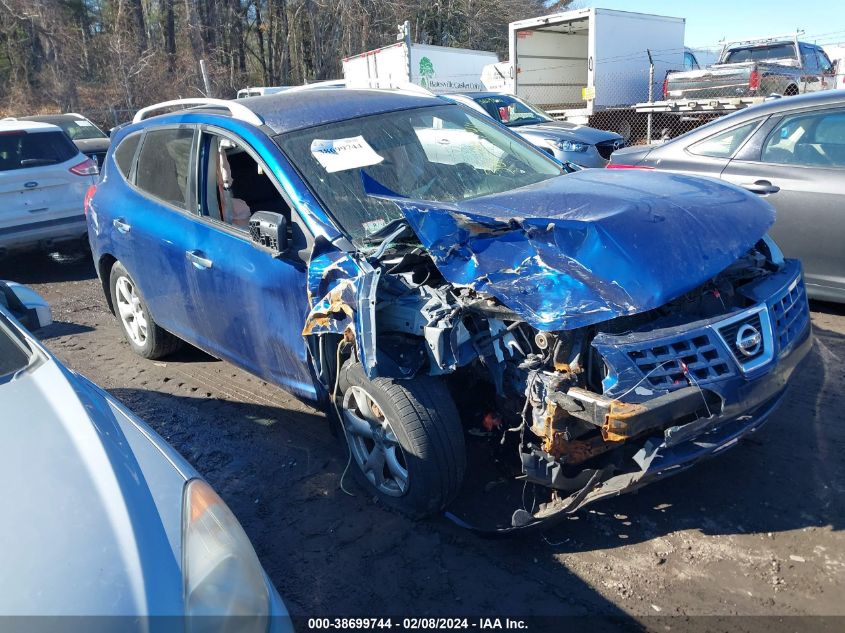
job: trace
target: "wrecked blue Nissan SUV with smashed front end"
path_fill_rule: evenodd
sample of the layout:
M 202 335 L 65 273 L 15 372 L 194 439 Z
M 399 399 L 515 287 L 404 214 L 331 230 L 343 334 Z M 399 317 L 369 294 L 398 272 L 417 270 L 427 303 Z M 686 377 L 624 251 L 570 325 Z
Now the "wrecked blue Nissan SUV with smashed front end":
M 766 202 L 567 171 L 445 99 L 291 90 L 142 110 L 86 209 L 137 353 L 188 341 L 322 403 L 362 485 L 411 515 L 477 474 L 486 436 L 497 477 L 546 491 L 509 530 L 732 446 L 810 347 Z

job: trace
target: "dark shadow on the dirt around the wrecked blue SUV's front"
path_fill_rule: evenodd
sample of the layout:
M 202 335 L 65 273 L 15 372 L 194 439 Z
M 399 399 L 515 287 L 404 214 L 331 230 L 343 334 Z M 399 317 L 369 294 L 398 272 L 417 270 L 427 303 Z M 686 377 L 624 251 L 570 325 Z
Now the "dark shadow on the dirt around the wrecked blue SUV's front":
M 832 424 L 845 336 L 818 340 L 784 405 L 752 439 L 637 494 L 598 502 L 543 535 L 489 541 L 444 518 L 413 522 L 351 478 L 320 415 L 137 389 L 113 393 L 208 478 L 244 525 L 294 615 L 583 616 L 637 630 L 562 562 L 689 530 L 706 535 L 842 527 L 845 425 Z M 841 415 L 840 415 L 841 418 Z M 485 495 L 500 502 L 496 488 Z M 530 492 L 528 492 L 530 495 Z M 507 512 L 510 508 L 504 508 Z M 482 554 L 482 555 L 480 555 Z M 656 560 L 655 565 L 660 564 Z M 354 591 L 346 580 L 358 578 Z M 542 622 L 541 622 L 542 623 Z M 560 622 L 558 622 L 560 624 Z

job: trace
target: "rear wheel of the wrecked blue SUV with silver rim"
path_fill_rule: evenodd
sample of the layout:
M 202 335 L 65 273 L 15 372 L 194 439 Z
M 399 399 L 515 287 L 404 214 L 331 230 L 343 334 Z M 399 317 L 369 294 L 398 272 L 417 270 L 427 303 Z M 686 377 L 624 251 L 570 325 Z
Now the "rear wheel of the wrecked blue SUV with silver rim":
M 140 290 L 120 262 L 112 266 L 109 291 L 120 329 L 133 352 L 144 358 L 156 359 L 182 346 L 181 340 L 153 320 Z

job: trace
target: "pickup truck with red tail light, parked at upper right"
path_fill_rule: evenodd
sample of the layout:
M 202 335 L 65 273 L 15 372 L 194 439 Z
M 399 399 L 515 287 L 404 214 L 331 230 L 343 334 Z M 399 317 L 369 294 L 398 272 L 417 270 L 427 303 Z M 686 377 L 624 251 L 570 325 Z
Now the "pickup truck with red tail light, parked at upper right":
M 663 99 L 796 95 L 835 86 L 833 64 L 821 47 L 797 37 L 726 43 L 719 61 L 702 70 L 669 72 Z

